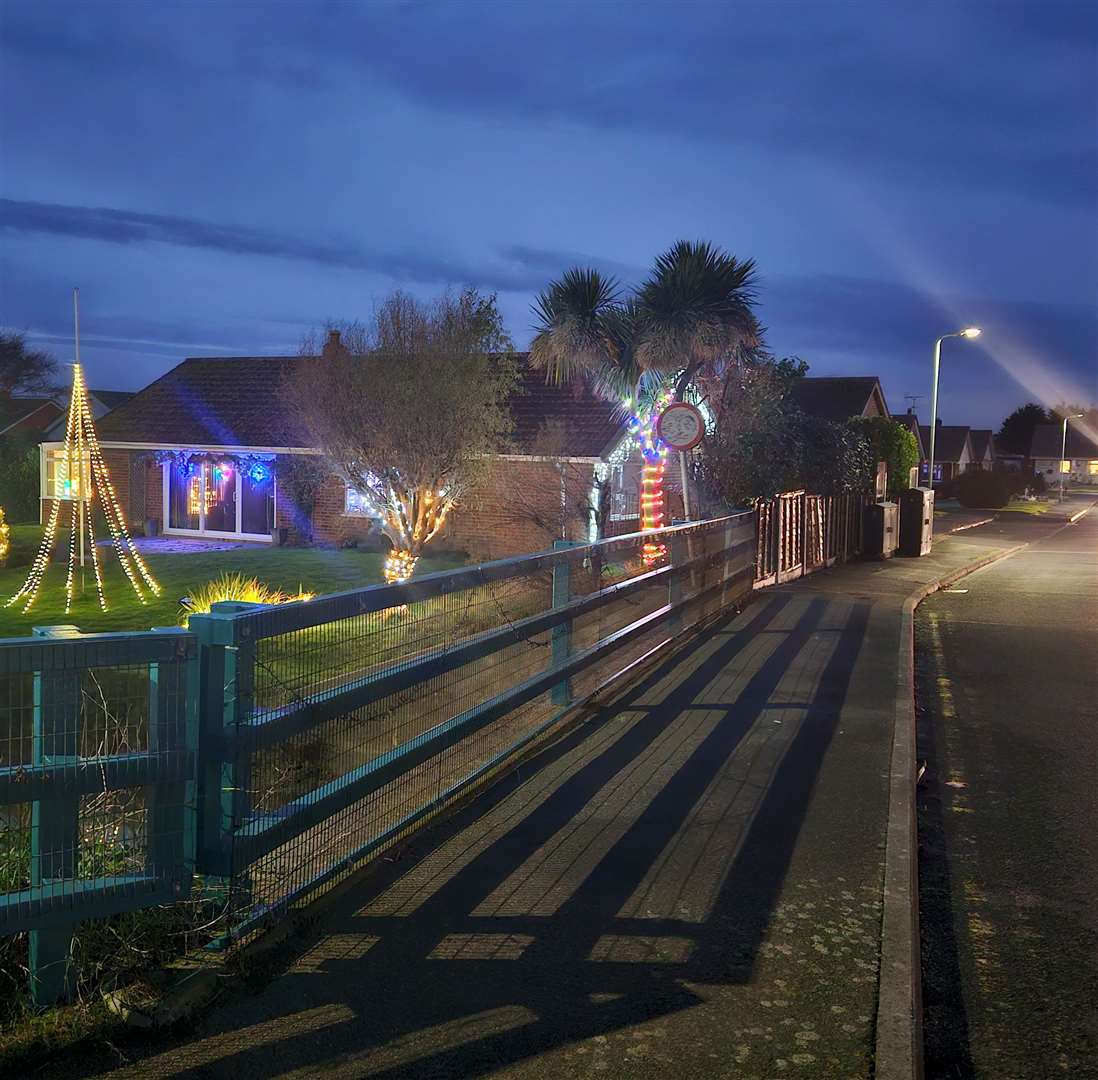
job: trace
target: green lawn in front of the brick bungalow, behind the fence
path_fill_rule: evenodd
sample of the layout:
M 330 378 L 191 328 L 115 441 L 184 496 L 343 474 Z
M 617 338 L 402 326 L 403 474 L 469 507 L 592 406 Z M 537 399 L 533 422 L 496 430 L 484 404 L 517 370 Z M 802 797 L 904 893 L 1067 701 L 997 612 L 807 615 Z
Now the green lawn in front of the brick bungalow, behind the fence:
M 41 530 L 36 525 L 12 527 L 11 556 L 8 566 L 0 570 L 0 638 L 20 637 L 30 633 L 32 627 L 58 623 L 72 623 L 88 632 L 176 626 L 179 621 L 180 598 L 225 571 L 255 575 L 261 582 L 283 592 L 296 593 L 300 585 L 307 592 L 322 594 L 379 584 L 384 562 L 384 555 L 378 552 L 359 551 L 355 548 L 332 551 L 323 548 L 267 548 L 259 544 L 232 551 L 150 555 L 145 562 L 160 584 L 160 595 L 142 605 L 123 575 L 113 551 L 101 547 L 103 588 L 109 607 L 107 612 L 99 609 L 96 580 L 89 563 L 83 595 L 77 594 L 71 611 L 66 615 L 65 565 L 55 561 L 46 574 L 34 606 L 24 615 L 21 605 L 3 605 L 22 586 L 40 535 Z M 15 563 L 22 565 L 14 565 Z M 416 573 L 426 574 L 459 565 L 461 559 L 457 555 L 425 555 Z

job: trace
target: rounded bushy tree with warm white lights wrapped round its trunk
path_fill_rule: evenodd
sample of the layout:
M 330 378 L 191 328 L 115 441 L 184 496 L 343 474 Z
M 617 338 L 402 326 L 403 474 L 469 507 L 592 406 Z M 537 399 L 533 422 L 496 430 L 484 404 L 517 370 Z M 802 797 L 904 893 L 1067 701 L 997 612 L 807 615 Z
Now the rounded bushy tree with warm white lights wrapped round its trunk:
M 495 296 L 475 289 L 430 303 L 397 292 L 369 324 L 328 329 L 338 338 L 291 380 L 290 405 L 377 515 L 385 580 L 406 581 L 509 430 L 514 347 Z M 302 351 L 316 346 L 312 335 Z

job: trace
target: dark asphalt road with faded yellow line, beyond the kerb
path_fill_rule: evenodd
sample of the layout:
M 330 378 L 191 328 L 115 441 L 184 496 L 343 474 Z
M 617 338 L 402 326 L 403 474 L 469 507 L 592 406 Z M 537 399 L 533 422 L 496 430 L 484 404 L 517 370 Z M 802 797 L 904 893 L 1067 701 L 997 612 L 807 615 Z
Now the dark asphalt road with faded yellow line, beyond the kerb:
M 916 617 L 926 1071 L 1098 1077 L 1098 509 Z

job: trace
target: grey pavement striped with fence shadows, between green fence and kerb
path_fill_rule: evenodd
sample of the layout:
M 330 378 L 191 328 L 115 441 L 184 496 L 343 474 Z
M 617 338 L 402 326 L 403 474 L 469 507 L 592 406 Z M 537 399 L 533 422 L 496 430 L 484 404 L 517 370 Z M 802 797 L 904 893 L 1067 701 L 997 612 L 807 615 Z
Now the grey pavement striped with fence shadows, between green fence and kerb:
M 1017 542 L 760 595 L 114 1075 L 869 1077 L 904 600 Z

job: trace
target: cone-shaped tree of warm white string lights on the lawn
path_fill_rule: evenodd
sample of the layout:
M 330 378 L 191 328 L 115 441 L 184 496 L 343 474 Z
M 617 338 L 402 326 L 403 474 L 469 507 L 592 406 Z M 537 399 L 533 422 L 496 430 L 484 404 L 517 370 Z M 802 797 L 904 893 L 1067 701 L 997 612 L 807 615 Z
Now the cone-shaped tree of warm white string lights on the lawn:
M 83 381 L 83 371 L 79 363 L 72 364 L 72 395 L 69 398 L 68 421 L 65 428 L 65 450 L 58 472 L 55 476 L 53 505 L 49 508 L 49 519 L 42 535 L 42 543 L 31 564 L 30 573 L 23 587 L 8 600 L 8 607 L 23 601 L 23 610 L 29 611 L 38 596 L 42 582 L 49 567 L 49 553 L 53 551 L 60 525 L 63 506 L 68 507 L 69 542 L 68 572 L 65 577 L 65 614 L 72 607 L 74 584 L 76 581 L 76 564 L 79 553 L 81 569 L 85 565 L 86 551 L 90 550 L 91 565 L 96 577 L 96 593 L 99 606 L 107 610 L 107 596 L 103 592 L 103 574 L 96 549 L 93 529 L 92 503 L 98 498 L 103 508 L 103 518 L 111 535 L 111 543 L 119 558 L 123 572 L 130 580 L 137 599 L 147 603 L 145 590 L 159 595 L 160 586 L 149 573 L 148 567 L 137 552 L 137 548 L 126 528 L 122 507 L 119 505 L 111 475 L 103 460 L 103 452 L 96 435 L 96 425 L 88 404 L 88 390 Z

